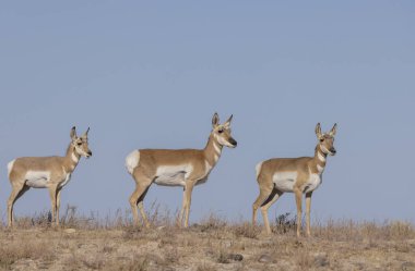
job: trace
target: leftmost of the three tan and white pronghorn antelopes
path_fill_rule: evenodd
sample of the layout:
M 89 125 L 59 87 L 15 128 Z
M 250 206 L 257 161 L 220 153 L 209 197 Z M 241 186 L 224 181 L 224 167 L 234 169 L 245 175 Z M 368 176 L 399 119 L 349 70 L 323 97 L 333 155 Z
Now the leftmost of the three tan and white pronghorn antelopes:
M 71 180 L 81 156 L 90 158 L 92 152 L 87 144 L 87 133 L 76 136 L 75 127 L 71 130 L 71 143 L 64 157 L 22 157 L 8 164 L 12 193 L 8 201 L 9 226 L 13 223 L 13 205 L 31 187 L 48 188 L 51 200 L 52 222 L 59 225 L 60 193 Z

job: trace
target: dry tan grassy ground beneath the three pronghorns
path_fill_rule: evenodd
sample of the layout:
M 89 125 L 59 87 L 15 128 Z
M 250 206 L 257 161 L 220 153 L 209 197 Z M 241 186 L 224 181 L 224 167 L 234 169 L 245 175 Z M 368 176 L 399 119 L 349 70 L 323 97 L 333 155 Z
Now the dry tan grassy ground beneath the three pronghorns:
M 20 218 L 0 231 L 0 270 L 415 270 L 415 229 L 405 222 L 328 221 L 297 238 L 289 214 L 265 236 L 214 214 L 179 229 L 176 214 L 158 210 L 149 230 L 121 211 L 100 219 L 69 207 L 59 229 L 47 212 Z

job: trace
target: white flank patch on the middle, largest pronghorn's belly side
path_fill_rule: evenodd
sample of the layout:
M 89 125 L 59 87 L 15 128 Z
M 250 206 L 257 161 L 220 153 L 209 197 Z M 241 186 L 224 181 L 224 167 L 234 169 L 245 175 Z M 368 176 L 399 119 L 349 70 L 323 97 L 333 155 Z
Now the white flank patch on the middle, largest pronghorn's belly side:
M 192 171 L 191 164 L 161 165 L 157 168 L 154 183 L 164 186 L 186 186 L 186 180 Z

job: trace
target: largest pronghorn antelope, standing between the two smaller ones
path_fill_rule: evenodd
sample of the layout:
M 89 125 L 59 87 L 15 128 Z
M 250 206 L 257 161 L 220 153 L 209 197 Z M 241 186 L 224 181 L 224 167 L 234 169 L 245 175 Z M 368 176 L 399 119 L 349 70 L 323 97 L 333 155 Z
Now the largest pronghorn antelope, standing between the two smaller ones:
M 182 186 L 183 199 L 178 224 L 189 225 L 191 193 L 194 185 L 206 182 L 212 169 L 216 165 L 223 146 L 235 148 L 237 143 L 230 136 L 230 118 L 220 124 L 217 113 L 213 115 L 213 130 L 204 149 L 141 149 L 133 150 L 126 158 L 128 172 L 135 181 L 137 187 L 130 197 L 134 223 L 139 224 L 138 208 L 146 227 L 150 226 L 145 215 L 143 200 L 150 185 Z

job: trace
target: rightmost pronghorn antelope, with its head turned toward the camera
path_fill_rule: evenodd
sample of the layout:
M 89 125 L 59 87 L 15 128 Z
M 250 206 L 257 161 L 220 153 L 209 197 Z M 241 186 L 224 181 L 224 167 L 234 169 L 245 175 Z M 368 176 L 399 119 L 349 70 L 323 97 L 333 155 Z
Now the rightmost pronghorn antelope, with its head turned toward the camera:
M 320 123 L 316 126 L 318 144 L 313 157 L 276 158 L 260 162 L 257 165 L 257 181 L 260 195 L 252 206 L 252 224 L 257 221 L 257 210 L 261 207 L 262 218 L 268 234 L 271 234 L 268 209 L 285 192 L 294 193 L 297 204 L 297 236 L 301 227 L 301 199 L 306 194 L 307 235 L 310 236 L 311 195 L 322 182 L 327 156 L 334 156 L 334 135 L 336 124 L 329 133 L 321 133 Z

